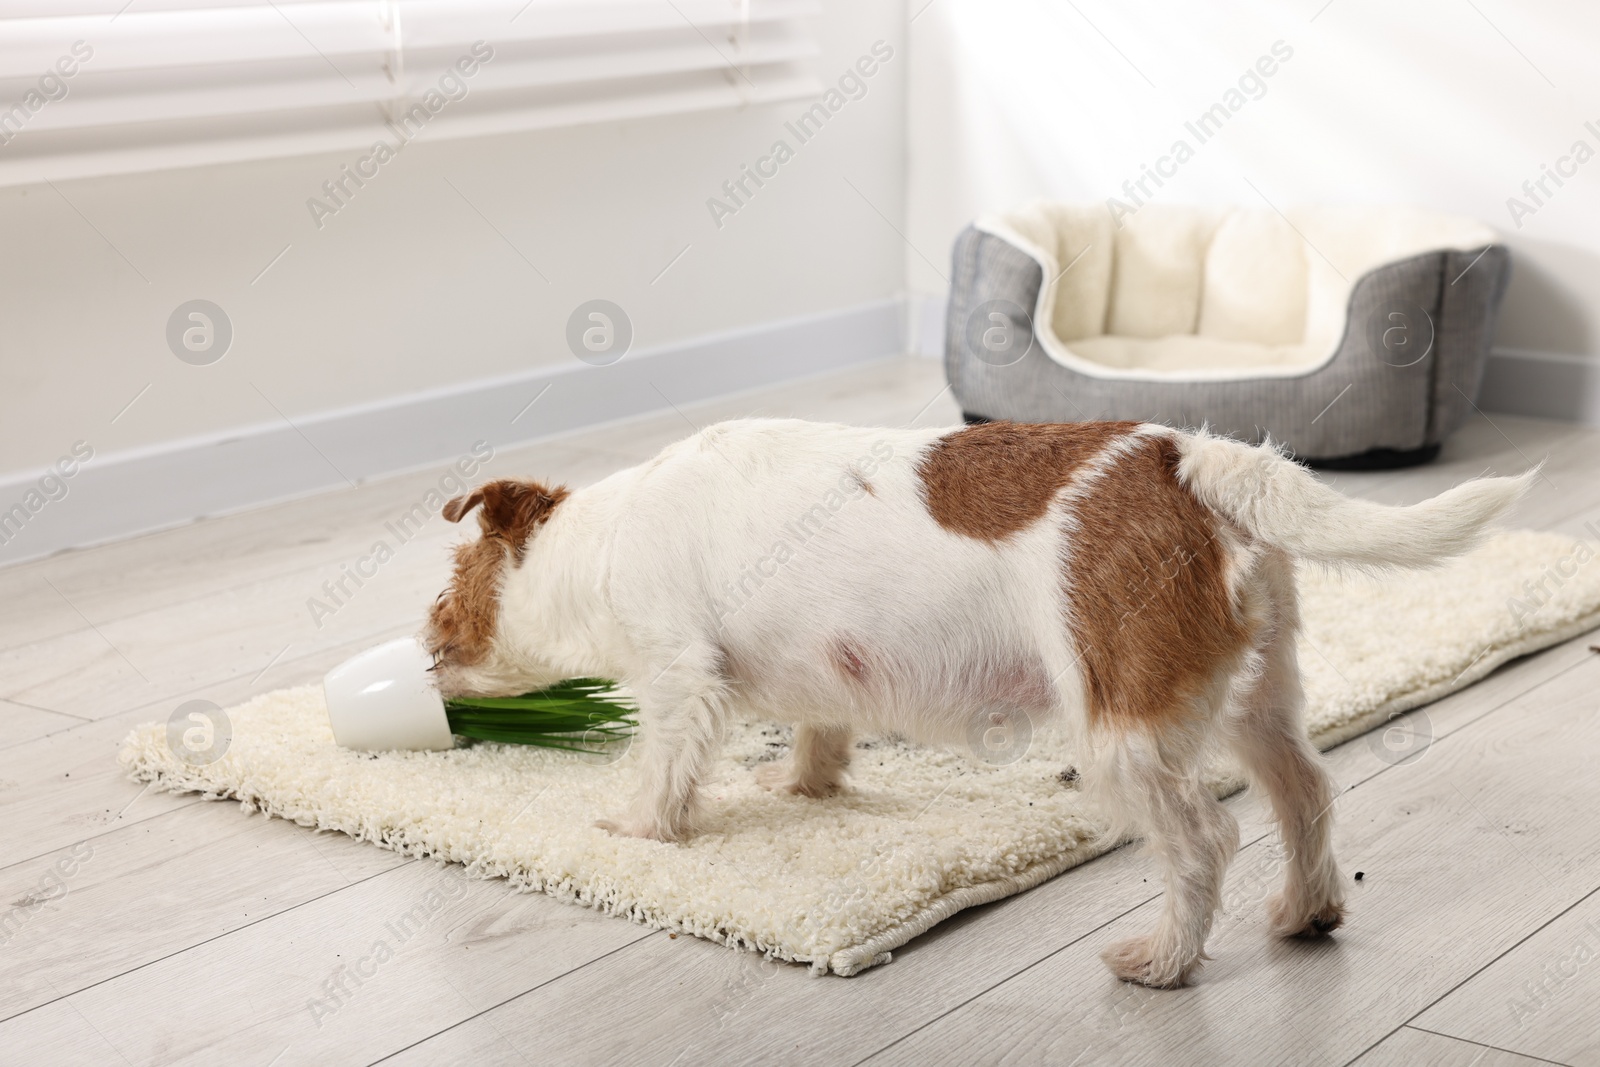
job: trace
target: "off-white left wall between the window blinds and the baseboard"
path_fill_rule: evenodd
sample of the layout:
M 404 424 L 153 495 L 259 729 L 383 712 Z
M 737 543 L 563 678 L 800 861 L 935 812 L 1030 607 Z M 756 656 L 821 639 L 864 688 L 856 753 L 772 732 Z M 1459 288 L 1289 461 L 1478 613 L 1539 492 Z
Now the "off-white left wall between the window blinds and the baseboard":
M 810 101 L 419 141 L 320 230 L 306 200 L 358 154 L 0 189 L 0 474 L 78 438 L 162 448 L 282 426 L 274 405 L 293 419 L 571 363 L 566 318 L 594 298 L 648 349 L 899 294 L 901 238 L 874 206 L 899 226 L 904 19 L 899 0 L 826 5 L 824 82 L 875 40 L 896 58 L 720 229 L 707 197 Z M 165 342 L 195 298 L 234 323 L 211 366 Z

